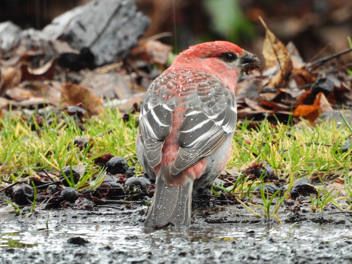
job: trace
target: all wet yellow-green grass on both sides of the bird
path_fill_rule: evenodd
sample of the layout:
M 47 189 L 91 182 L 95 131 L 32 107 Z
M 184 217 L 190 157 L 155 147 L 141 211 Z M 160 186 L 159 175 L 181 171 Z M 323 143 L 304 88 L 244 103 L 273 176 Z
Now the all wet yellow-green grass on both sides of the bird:
M 42 168 L 58 172 L 71 165 L 85 171 L 85 178 L 73 187 L 79 190 L 97 187 L 104 171 L 94 166 L 93 160 L 104 153 L 124 157 L 128 165 L 136 165 L 137 172 L 143 170 L 136 163 L 134 146 L 138 115 L 131 114 L 126 121 L 118 112 L 107 110 L 97 118 L 86 119 L 83 131 L 75 118 L 65 113 L 59 117 L 48 114 L 40 124 L 37 120 L 34 116 L 24 118 L 11 112 L 0 119 L 0 185 L 37 176 Z M 293 126 L 272 125 L 267 120 L 238 122 L 228 168 L 237 167 L 241 171 L 253 162 L 265 161 L 279 179 L 286 180 L 287 185 L 283 192 L 269 195 L 264 191 L 263 177 L 250 180 L 249 175 L 240 173 L 232 186 L 218 188 L 234 193 L 242 199 L 241 203 L 246 200 L 243 205 L 257 216 L 274 217 L 280 221 L 278 211 L 293 182 L 301 177 L 318 177 L 321 186 L 316 186 L 319 192 L 317 197 L 312 197 L 312 210 L 322 213 L 328 204 L 341 210 L 351 209 L 352 153 L 344 145 L 350 134 L 348 126 L 337 126 L 334 122 L 315 126 L 305 121 Z M 75 143 L 75 139 L 82 137 L 89 139 L 86 147 Z M 98 175 L 98 180 L 93 175 Z M 73 181 L 70 175 L 66 176 L 68 182 Z M 323 189 L 327 180 L 337 176 L 345 179 L 344 197 Z M 260 193 L 256 195 L 262 198 L 262 203 L 254 205 L 251 197 L 258 186 Z

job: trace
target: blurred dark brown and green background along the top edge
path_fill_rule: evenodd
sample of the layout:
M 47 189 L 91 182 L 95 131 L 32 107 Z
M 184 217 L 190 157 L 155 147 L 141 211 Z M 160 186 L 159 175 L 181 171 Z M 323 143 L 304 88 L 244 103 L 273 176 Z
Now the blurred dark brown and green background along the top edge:
M 1 0 L 0 21 L 22 28 L 43 28 L 57 15 L 90 0 Z M 352 36 L 352 0 L 134 0 L 151 18 L 144 38 L 161 32 L 161 41 L 179 52 L 189 45 L 229 40 L 261 56 L 265 30 L 287 44 L 293 41 L 304 61 L 348 48 Z M 346 55 L 346 62 L 351 55 Z

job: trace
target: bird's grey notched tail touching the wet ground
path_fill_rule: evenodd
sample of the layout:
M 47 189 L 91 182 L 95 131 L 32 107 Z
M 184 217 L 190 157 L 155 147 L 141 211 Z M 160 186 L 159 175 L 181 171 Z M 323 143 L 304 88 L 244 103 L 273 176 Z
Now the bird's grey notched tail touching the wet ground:
M 190 224 L 193 179 L 187 177 L 180 187 L 166 183 L 167 177 L 169 168 L 165 166 L 159 170 L 156 177 L 156 189 L 144 221 L 145 227 L 162 227 L 168 223 L 175 226 Z

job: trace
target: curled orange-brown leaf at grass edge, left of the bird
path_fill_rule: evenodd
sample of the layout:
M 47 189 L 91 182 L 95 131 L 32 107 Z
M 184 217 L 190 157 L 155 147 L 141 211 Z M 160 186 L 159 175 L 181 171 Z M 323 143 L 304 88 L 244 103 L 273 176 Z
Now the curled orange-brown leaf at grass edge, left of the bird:
M 70 106 L 82 104 L 90 117 L 102 113 L 105 109 L 98 96 L 77 84 L 62 83 L 61 98 Z

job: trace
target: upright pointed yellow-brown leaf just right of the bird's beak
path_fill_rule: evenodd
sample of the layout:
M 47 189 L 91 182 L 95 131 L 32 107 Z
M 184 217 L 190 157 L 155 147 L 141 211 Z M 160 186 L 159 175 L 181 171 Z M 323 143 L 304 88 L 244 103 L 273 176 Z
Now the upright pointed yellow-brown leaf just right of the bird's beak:
M 263 19 L 260 17 L 259 19 L 266 30 L 262 51 L 265 58 L 265 69 L 278 68 L 276 74 L 270 79 L 268 86 L 284 84 L 292 70 L 290 52 L 274 33 L 268 29 Z

